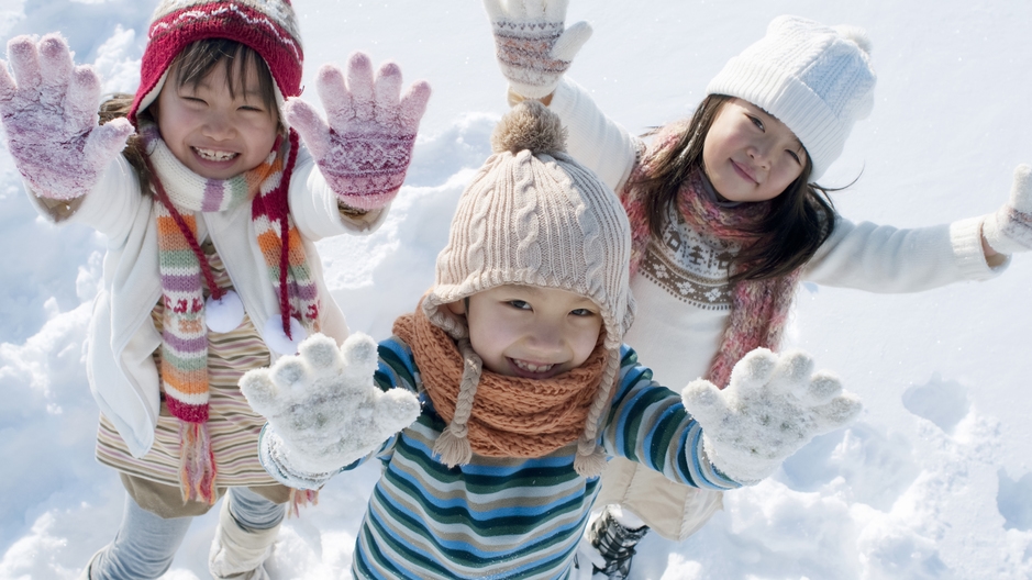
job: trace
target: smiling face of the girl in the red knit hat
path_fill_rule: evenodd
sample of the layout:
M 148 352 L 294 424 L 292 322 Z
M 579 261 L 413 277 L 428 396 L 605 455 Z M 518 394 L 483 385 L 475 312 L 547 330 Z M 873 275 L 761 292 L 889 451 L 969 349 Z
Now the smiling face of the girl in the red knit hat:
M 157 126 L 176 158 L 195 174 L 229 179 L 254 169 L 271 152 L 279 115 L 263 102 L 256 66 L 249 60 L 240 71 L 243 90 L 235 91 L 222 65 L 197 85 L 178 86 L 176 67 L 168 71 L 156 101 Z

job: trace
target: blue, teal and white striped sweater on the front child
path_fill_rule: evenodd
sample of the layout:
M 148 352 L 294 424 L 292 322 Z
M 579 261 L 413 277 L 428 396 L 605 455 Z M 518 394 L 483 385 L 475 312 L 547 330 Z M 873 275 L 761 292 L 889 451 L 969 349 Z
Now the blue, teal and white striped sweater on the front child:
M 690 486 L 739 487 L 703 456 L 702 430 L 680 395 L 653 382 L 626 346 L 620 378 L 601 434 L 608 455 Z M 445 423 L 400 339 L 380 343 L 376 383 L 420 393 L 423 413 L 375 455 L 384 472 L 358 532 L 355 577 L 568 578 L 599 482 L 574 471 L 576 444 L 536 459 L 474 455 L 468 465 L 448 469 L 432 454 Z

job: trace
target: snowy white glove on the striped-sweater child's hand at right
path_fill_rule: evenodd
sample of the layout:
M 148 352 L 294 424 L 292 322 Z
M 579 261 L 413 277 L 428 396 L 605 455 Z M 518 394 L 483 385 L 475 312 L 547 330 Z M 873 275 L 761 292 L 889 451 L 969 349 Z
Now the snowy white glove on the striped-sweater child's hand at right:
M 734 365 L 723 391 L 703 379 L 688 383 L 681 399 L 702 426 L 710 462 L 739 483 L 756 483 L 814 436 L 859 414 L 859 400 L 837 378 L 812 371 L 806 353 L 757 348 Z

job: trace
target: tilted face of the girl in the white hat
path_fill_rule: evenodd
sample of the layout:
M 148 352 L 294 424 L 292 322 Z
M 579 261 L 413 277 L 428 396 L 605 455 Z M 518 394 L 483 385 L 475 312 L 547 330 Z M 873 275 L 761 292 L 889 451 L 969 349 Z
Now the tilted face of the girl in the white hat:
M 742 99 L 721 107 L 702 143 L 706 175 L 731 201 L 780 196 L 807 163 L 806 149 L 785 123 Z

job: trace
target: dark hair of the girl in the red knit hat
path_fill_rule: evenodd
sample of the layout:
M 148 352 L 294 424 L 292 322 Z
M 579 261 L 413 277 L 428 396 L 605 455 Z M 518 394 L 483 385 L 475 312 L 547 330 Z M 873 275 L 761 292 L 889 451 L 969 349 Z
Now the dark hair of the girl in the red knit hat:
M 206 38 L 190 43 L 184 48 L 169 65 L 169 70 L 176 70 L 175 83 L 177 87 L 191 85 L 195 88 L 208 77 L 211 71 L 220 64 L 225 68 L 226 88 L 230 89 L 230 96 L 236 97 L 243 93 L 244 72 L 254 64 L 254 70 L 257 71 L 258 91 L 262 103 L 270 114 L 278 115 L 276 103 L 276 85 L 268 66 L 262 59 L 262 56 L 249 46 L 230 41 L 228 38 Z M 166 79 L 166 82 L 171 79 Z M 115 93 L 100 105 L 100 124 L 104 124 L 112 119 L 126 116 L 133 104 L 133 96 L 129 93 Z M 154 121 L 154 110 L 157 107 L 155 101 L 144 111 L 136 113 L 141 121 Z M 280 122 L 281 124 L 281 122 Z M 138 135 L 130 137 L 122 152 L 129 163 L 135 168 L 142 179 L 149 179 L 149 175 L 144 161 L 144 152 L 140 143 Z

